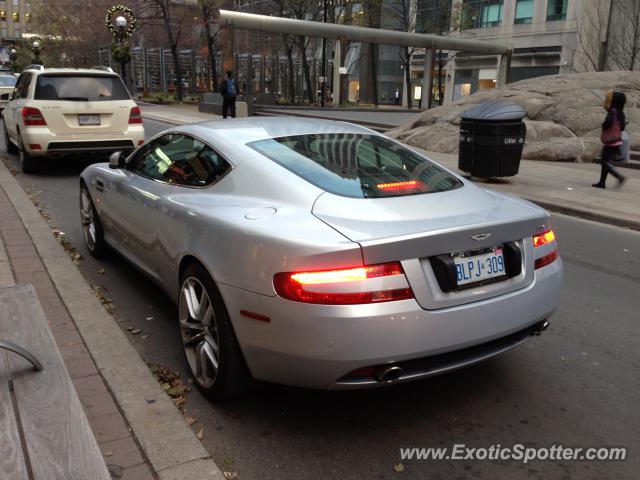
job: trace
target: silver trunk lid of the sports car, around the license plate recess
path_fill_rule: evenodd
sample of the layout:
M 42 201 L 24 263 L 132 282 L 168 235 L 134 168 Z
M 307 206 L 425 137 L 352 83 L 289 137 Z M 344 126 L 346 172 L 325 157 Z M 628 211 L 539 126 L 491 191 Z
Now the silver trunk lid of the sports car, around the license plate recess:
M 524 200 L 465 183 L 447 192 L 356 199 L 322 194 L 313 214 L 362 248 L 367 265 L 401 261 L 417 302 L 445 308 L 524 288 L 533 281 L 531 237 L 548 214 Z M 473 237 L 472 237 L 473 236 Z M 430 258 L 478 251 L 510 242 L 520 272 L 492 285 L 444 291 Z

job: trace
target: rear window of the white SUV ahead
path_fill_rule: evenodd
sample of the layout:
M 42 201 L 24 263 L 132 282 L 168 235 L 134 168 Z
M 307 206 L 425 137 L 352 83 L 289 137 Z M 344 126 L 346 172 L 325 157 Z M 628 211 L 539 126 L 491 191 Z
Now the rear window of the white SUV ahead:
M 116 76 L 40 75 L 36 83 L 36 100 L 100 102 L 130 98 L 120 77 Z

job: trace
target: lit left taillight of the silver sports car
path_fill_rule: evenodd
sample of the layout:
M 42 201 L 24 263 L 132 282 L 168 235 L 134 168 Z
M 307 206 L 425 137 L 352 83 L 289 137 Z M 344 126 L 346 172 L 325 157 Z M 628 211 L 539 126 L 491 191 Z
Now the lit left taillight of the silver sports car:
M 325 305 L 353 305 L 413 298 L 399 262 L 278 273 L 273 277 L 273 285 L 276 293 L 283 298 Z

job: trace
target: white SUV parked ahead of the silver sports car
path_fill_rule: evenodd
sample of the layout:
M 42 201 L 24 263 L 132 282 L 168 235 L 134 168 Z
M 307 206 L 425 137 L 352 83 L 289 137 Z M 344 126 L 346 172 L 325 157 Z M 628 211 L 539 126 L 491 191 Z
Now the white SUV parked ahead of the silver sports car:
M 112 71 L 27 67 L 2 117 L 7 151 L 19 153 L 25 173 L 44 156 L 144 143 L 140 108 Z

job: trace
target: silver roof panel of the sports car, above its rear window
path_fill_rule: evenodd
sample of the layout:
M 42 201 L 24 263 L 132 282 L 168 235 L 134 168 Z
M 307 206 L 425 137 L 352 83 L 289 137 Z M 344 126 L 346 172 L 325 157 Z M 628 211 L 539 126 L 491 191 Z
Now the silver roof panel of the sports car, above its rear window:
M 175 130 L 191 133 L 216 143 L 247 144 L 268 138 L 289 137 L 319 133 L 343 133 L 360 135 L 378 135 L 368 128 L 353 123 L 336 120 L 324 120 L 303 117 L 246 117 L 184 125 Z

